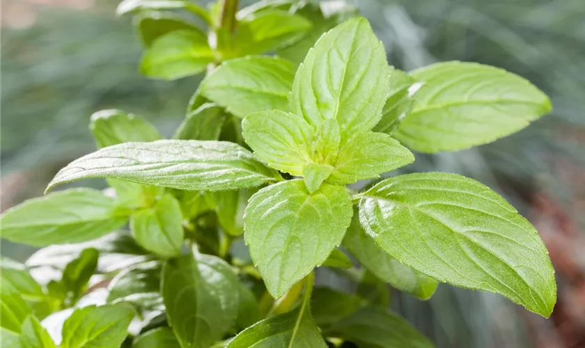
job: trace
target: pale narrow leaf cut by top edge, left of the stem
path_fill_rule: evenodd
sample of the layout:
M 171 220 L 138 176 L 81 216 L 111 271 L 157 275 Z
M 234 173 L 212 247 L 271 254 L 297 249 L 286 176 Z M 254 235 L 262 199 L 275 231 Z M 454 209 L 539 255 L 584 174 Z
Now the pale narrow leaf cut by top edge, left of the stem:
M 197 15 L 207 23 L 211 23 L 211 18 L 205 8 L 197 5 L 190 0 L 123 0 L 116 13 L 125 15 L 126 13 L 148 11 L 148 10 L 181 10 L 185 9 Z

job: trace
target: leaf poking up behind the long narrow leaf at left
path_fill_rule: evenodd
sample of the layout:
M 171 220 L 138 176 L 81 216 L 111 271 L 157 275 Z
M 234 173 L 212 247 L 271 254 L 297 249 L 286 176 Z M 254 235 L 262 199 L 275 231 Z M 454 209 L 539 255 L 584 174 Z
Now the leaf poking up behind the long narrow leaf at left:
M 89 129 L 98 148 L 132 141 L 161 139 L 157 129 L 146 120 L 121 110 L 102 110 L 91 116 Z

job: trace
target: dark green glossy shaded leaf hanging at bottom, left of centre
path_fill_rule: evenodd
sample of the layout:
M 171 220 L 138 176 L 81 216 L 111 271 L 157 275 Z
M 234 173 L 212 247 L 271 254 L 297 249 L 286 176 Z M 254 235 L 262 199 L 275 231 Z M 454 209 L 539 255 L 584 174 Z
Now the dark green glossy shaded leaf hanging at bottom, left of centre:
M 162 296 L 181 347 L 210 347 L 235 324 L 238 281 L 230 266 L 212 255 L 192 253 L 169 260 Z

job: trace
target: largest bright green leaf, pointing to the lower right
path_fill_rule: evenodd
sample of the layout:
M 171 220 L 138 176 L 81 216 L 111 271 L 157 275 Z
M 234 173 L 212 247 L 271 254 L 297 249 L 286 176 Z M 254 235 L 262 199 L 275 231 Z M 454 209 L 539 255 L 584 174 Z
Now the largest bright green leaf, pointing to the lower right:
M 475 180 L 447 173 L 383 180 L 361 195 L 359 219 L 380 248 L 423 274 L 552 312 L 556 284 L 543 241 Z

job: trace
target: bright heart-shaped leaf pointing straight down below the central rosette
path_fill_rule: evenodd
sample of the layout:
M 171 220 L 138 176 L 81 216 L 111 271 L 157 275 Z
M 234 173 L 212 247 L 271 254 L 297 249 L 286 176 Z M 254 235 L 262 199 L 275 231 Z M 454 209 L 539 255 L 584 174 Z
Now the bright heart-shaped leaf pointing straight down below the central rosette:
M 323 184 L 311 194 L 302 180 L 290 180 L 255 193 L 244 215 L 244 241 L 268 292 L 283 296 L 325 262 L 351 216 L 345 187 Z

